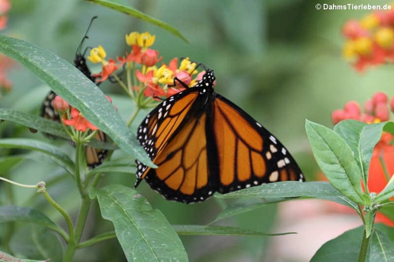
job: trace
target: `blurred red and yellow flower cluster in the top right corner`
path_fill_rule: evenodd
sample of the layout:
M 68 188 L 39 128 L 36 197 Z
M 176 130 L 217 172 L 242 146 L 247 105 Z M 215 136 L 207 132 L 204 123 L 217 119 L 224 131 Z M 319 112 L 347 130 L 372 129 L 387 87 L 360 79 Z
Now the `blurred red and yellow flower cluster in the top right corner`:
M 356 70 L 394 61 L 394 6 L 374 11 L 360 21 L 351 19 L 342 28 L 346 37 L 343 55 Z

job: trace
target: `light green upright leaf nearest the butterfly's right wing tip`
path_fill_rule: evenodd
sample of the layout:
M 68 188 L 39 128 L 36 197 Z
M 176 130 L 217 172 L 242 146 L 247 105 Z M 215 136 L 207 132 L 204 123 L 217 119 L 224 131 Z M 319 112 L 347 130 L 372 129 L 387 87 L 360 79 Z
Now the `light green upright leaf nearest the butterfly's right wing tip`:
M 309 120 L 305 129 L 316 162 L 331 185 L 357 203 L 370 204 L 361 187 L 360 168 L 346 142 L 331 129 Z

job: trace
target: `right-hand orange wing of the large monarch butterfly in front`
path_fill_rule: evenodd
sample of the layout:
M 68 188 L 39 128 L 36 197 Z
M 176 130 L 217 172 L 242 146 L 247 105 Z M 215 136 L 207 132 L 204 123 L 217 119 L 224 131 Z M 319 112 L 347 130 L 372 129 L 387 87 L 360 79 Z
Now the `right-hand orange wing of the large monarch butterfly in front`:
M 268 130 L 219 94 L 212 103 L 210 123 L 218 153 L 220 193 L 271 182 L 304 180 L 288 150 Z

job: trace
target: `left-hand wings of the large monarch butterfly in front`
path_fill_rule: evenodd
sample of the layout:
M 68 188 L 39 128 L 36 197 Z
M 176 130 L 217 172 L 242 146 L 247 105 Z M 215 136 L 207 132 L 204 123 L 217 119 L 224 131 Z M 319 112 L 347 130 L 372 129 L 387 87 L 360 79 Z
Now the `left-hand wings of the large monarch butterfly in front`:
M 199 89 L 191 88 L 167 98 L 148 114 L 137 139 L 158 168 L 136 160 L 135 187 L 145 178 L 165 198 L 186 203 L 214 192 L 207 162 L 205 103 Z

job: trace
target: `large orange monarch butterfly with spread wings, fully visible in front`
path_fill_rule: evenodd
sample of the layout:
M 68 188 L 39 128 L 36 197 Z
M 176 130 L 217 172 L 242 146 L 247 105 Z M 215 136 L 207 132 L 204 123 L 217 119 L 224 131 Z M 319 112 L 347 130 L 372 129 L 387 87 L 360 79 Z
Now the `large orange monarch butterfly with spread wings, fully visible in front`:
M 213 90 L 213 70 L 191 88 L 154 108 L 137 129 L 137 140 L 158 166 L 136 160 L 137 180 L 168 200 L 203 201 L 265 183 L 304 181 L 279 140 L 241 108 Z M 180 81 L 180 84 L 187 87 Z

